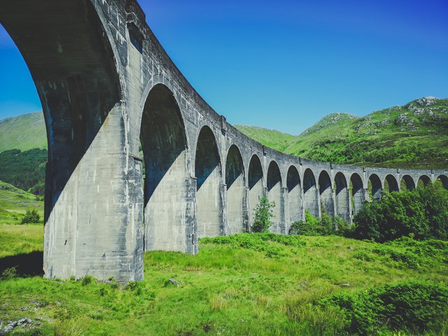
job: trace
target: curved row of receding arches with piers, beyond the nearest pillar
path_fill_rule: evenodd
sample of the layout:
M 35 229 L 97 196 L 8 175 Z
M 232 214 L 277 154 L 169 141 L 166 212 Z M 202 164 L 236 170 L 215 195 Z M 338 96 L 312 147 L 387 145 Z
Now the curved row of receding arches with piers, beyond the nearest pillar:
M 315 174 L 311 168 L 304 169 L 301 176 L 293 164 L 283 179 L 276 160 L 266 162 L 265 172 L 257 154 L 245 164 L 235 144 L 221 158 L 217 138 L 207 125 L 200 129 L 192 150 L 181 109 L 172 91 L 162 84 L 148 94 L 140 141 L 145 167 L 146 250 L 186 250 L 188 239 L 192 239 L 186 225 L 189 216 L 197 216 L 193 231 L 199 238 L 245 232 L 263 195 L 276 204 L 269 230 L 287 233 L 291 223 L 304 220 L 305 211 L 351 221 L 365 200 L 381 197 L 381 190 L 414 190 L 431 181 L 427 175 L 415 180 L 405 174 L 398 180 L 393 174 L 382 179 L 370 174 L 365 183 L 356 172 L 330 174 L 319 169 Z M 193 153 L 194 159 L 189 158 Z M 448 188 L 447 176 L 437 179 Z M 192 197 L 195 209 L 189 205 Z

